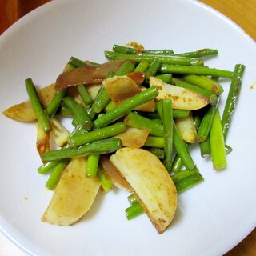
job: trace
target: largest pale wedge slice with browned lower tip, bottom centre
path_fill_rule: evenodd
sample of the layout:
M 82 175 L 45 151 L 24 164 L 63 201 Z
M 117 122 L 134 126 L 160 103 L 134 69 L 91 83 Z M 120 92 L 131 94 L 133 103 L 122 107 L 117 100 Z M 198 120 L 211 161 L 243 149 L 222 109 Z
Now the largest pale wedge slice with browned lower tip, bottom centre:
M 177 190 L 162 162 L 147 150 L 125 147 L 110 161 L 130 184 L 159 234 L 170 225 L 177 209 Z

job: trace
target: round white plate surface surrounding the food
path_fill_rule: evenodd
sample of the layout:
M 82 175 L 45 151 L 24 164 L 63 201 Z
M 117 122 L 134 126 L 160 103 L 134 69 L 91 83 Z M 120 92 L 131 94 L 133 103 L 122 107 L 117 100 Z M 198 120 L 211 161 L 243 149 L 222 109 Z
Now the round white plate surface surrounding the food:
M 227 142 L 234 148 L 228 168 L 216 172 L 193 152 L 205 182 L 179 196 L 178 213 L 162 235 L 144 215 L 128 222 L 127 194 L 117 190 L 98 196 L 77 225 L 50 226 L 40 221 L 51 193 L 44 187 L 47 177 L 37 173 L 34 125 L 1 115 L 0 226 L 28 254 L 221 255 L 256 225 L 256 90 L 250 88 L 256 79 L 255 43 L 198 2 L 62 0 L 34 10 L 0 38 L 1 111 L 27 98 L 25 78 L 45 86 L 71 55 L 104 62 L 103 50 L 128 41 L 175 52 L 216 48 L 218 58 L 207 65 L 226 70 L 246 65 Z

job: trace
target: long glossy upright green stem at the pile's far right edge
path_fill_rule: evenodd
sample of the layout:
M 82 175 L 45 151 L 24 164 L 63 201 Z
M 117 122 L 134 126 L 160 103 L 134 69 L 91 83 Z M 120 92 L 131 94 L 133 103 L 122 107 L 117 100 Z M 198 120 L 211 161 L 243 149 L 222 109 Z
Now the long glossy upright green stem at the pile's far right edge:
M 228 131 L 230 129 L 231 118 L 238 104 L 238 98 L 242 85 L 242 75 L 244 73 L 244 70 L 245 66 L 243 66 L 242 64 L 237 64 L 234 67 L 234 75 L 232 77 L 229 94 L 227 96 L 226 104 L 222 114 L 222 129 L 225 141 Z

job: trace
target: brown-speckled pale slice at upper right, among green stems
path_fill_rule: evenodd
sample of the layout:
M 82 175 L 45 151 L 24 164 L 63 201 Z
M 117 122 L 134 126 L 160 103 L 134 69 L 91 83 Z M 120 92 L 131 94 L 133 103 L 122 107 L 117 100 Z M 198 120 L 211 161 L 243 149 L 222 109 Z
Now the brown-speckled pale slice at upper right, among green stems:
M 176 110 L 198 110 L 210 103 L 209 98 L 192 90 L 172 86 L 159 78 L 150 77 L 150 86 L 158 86 L 158 101 L 170 98 Z

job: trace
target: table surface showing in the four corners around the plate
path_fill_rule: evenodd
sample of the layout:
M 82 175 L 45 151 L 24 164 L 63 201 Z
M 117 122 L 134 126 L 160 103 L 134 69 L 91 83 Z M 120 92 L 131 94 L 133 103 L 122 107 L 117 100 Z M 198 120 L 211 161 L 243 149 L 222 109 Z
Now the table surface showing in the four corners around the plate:
M 1 0 L 0 1 L 0 34 L 23 15 L 34 10 L 50 0 Z M 241 26 L 242 29 L 256 41 L 256 0 L 201 0 L 208 6 L 225 14 Z M 0 234 L 0 255 L 26 256 L 26 254 L 14 246 L 8 238 Z M 256 255 L 256 229 L 252 231 L 242 242 L 230 250 L 225 256 L 255 256 Z

